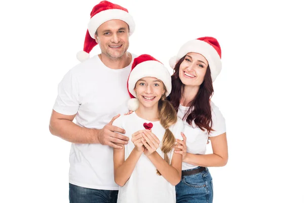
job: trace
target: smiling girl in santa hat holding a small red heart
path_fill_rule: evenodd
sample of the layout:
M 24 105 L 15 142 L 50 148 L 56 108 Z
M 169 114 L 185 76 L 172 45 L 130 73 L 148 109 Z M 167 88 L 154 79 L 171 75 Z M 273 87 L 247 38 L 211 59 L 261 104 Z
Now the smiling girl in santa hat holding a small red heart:
M 182 155 L 173 150 L 183 122 L 166 100 L 171 76 L 161 62 L 140 55 L 132 64 L 128 90 L 133 97 L 128 107 L 135 112 L 113 122 L 132 141 L 113 151 L 118 202 L 175 202 Z

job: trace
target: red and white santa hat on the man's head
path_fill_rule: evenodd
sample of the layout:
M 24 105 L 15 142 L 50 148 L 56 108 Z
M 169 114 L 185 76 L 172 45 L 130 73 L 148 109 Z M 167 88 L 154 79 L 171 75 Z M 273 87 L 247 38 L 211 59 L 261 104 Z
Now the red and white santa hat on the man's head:
M 88 24 L 84 50 L 77 53 L 78 60 L 84 61 L 90 58 L 90 51 L 97 45 L 95 41 L 95 32 L 102 23 L 108 20 L 125 21 L 129 25 L 129 36 L 134 32 L 135 22 L 127 9 L 108 1 L 102 1 L 97 4 L 91 12 L 91 19 Z

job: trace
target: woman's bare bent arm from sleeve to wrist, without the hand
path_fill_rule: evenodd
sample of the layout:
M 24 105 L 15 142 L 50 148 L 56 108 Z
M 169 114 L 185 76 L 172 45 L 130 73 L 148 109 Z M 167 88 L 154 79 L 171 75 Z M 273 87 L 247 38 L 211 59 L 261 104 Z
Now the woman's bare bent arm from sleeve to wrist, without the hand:
M 183 162 L 199 166 L 224 166 L 228 161 L 228 147 L 226 132 L 219 136 L 210 137 L 212 154 L 186 153 Z M 177 152 L 176 152 L 177 153 Z

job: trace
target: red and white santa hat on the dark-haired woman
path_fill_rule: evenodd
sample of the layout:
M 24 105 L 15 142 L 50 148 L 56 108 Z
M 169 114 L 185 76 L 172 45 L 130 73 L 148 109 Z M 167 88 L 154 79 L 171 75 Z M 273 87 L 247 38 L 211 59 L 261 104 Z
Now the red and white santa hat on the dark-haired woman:
M 186 42 L 177 55 L 169 60 L 172 69 L 189 52 L 202 54 L 208 60 L 212 82 L 214 82 L 221 71 L 221 49 L 217 40 L 212 37 L 203 37 Z

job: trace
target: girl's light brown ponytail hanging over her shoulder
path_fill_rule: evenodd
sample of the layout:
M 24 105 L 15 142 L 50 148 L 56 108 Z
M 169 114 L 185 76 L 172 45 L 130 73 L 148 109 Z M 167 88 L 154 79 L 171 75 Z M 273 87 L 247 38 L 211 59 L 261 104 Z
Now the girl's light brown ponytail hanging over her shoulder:
M 165 85 L 164 89 L 166 92 L 167 90 Z M 158 109 L 160 114 L 160 123 L 166 130 L 163 137 L 161 150 L 164 153 L 165 161 L 170 164 L 168 153 L 173 149 L 175 145 L 175 137 L 169 127 L 177 122 L 177 114 L 170 101 L 166 99 L 165 94 L 159 100 Z M 157 174 L 161 176 L 158 170 Z

